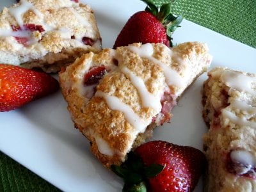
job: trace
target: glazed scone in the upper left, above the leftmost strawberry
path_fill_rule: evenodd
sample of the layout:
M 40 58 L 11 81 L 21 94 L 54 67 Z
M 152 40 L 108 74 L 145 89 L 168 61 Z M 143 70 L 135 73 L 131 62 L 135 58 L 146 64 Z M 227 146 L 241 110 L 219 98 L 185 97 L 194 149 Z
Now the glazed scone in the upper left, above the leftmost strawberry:
M 20 0 L 0 13 L 0 63 L 58 72 L 101 51 L 93 10 L 71 0 Z

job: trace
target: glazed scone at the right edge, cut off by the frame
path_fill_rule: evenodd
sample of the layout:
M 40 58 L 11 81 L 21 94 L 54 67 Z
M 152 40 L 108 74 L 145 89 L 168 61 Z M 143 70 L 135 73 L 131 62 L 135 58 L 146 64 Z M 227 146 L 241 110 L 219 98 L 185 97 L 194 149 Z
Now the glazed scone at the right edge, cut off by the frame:
M 205 191 L 256 191 L 256 75 L 218 67 L 208 76 Z

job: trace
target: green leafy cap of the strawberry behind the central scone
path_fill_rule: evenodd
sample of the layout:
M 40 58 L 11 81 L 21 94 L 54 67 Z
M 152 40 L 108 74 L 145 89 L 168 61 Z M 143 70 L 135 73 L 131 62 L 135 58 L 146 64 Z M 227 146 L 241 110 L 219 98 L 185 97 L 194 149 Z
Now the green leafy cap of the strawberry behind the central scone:
M 181 15 L 175 17 L 175 15 L 171 13 L 173 1 L 167 4 L 163 4 L 160 8 L 157 8 L 157 6 L 150 0 L 141 1 L 147 4 L 145 11 L 152 13 L 152 15 L 154 15 L 157 20 L 159 20 L 163 24 L 164 28 L 166 29 L 166 35 L 168 37 L 168 40 L 170 41 L 170 47 L 173 47 L 173 32 L 180 27 L 179 24 L 182 22 L 183 19 Z

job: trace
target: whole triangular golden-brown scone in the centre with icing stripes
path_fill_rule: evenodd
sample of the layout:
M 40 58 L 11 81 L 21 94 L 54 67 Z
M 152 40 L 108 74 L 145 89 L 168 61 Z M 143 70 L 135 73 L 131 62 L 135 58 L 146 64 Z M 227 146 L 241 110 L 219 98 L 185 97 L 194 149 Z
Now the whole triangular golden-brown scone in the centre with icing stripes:
M 198 42 L 172 49 L 132 44 L 84 54 L 60 73 L 72 120 L 105 166 L 120 164 L 156 125 L 170 120 L 176 100 L 209 67 L 207 51 Z M 98 85 L 85 86 L 84 77 L 96 66 L 105 66 L 105 75 Z

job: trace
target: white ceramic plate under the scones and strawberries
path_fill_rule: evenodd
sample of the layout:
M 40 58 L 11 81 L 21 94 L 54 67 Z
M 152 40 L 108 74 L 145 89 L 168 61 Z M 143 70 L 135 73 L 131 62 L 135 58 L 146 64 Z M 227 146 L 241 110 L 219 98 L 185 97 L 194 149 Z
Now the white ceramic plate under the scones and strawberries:
M 0 8 L 14 3 L 1 0 Z M 84 0 L 95 12 L 103 47 L 112 47 L 119 31 L 145 4 L 138 0 Z M 175 43 L 207 42 L 212 67 L 226 66 L 256 72 L 256 50 L 184 20 Z M 202 119 L 201 90 L 206 74 L 186 91 L 173 109 L 171 124 L 154 131 L 153 140 L 166 140 L 202 149 L 207 127 Z M 63 191 L 122 191 L 122 180 L 90 153 L 89 142 L 74 129 L 60 92 L 23 108 L 0 113 L 0 150 Z M 200 180 L 195 191 L 202 191 Z

